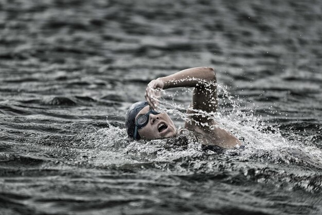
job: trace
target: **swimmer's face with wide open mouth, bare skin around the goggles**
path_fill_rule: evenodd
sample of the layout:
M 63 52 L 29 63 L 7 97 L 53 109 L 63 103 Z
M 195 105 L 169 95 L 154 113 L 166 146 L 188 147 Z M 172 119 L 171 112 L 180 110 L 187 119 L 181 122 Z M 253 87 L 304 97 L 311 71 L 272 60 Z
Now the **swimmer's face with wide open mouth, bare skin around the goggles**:
M 145 106 L 135 117 L 135 120 L 150 110 L 150 106 Z M 159 113 L 157 115 L 150 114 L 148 124 L 138 130 L 139 135 L 146 139 L 158 139 L 164 137 L 172 137 L 176 135 L 176 129 L 173 121 L 167 113 Z

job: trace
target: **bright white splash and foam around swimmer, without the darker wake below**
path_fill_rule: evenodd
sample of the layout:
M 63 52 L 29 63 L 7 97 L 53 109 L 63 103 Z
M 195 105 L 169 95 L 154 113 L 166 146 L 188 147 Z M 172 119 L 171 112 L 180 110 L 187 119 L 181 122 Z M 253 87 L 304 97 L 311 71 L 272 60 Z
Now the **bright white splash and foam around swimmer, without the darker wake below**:
M 319 149 L 305 145 L 300 138 L 292 140 L 285 138 L 277 126 L 265 122 L 261 116 L 254 113 L 253 103 L 247 103 L 246 99 L 230 95 L 227 86 L 213 82 L 203 84 L 217 87 L 220 100 L 219 102 L 217 98 L 212 100 L 212 104 L 218 106 L 217 112 L 194 110 L 189 106 L 188 100 L 181 100 L 191 98 L 193 91 L 191 88 L 178 88 L 175 92 L 160 91 L 160 98 L 156 98 L 159 102 L 159 111 L 165 111 L 182 120 L 191 120 L 191 116 L 214 119 L 218 122 L 216 127 L 235 134 L 244 145 L 240 150 L 226 150 L 224 157 L 227 159 L 232 157 L 234 160 L 253 160 L 265 164 L 307 164 L 321 167 L 322 153 Z M 187 114 L 186 110 L 193 113 Z M 203 150 L 201 142 L 188 130 L 179 129 L 181 133 L 173 138 L 137 141 L 128 138 L 125 129 L 112 126 L 107 119 L 106 123 L 108 128 L 86 134 L 80 144 L 84 149 L 94 149 L 93 154 L 100 154 L 95 162 L 97 165 L 120 164 L 120 160 L 116 157 L 122 157 L 123 162 L 128 160 L 137 164 L 175 163 L 175 171 L 178 171 L 182 164 L 198 159 L 199 163 L 205 162 L 203 167 L 200 167 L 201 171 L 213 169 L 211 162 L 209 163 L 208 158 L 204 156 L 207 153 L 216 154 L 216 150 Z M 214 128 L 207 123 L 201 126 Z

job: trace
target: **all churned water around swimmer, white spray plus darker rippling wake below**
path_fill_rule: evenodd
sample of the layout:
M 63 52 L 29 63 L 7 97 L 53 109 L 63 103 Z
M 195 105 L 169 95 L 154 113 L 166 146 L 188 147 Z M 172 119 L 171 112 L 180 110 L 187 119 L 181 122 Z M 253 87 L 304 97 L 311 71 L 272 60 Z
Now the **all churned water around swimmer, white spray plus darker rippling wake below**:
M 86 134 L 80 147 L 90 149 L 86 151 L 91 158 L 88 162 L 96 168 L 147 174 L 152 171 L 157 178 L 165 175 L 187 178 L 196 174 L 206 177 L 218 175 L 231 183 L 288 184 L 289 189 L 319 192 L 322 184 L 314 171 L 321 169 L 321 152 L 314 146 L 303 147 L 303 142 L 296 138 L 283 137 L 278 127 L 254 114 L 252 103 L 243 103 L 238 96 L 231 96 L 226 86 L 217 84 L 217 87 L 222 101 L 218 105 L 219 111 L 205 113 L 194 110 L 193 114 L 213 117 L 220 128 L 243 140 L 241 149 L 218 152 L 204 148 L 193 132 L 185 129 L 178 129 L 180 133 L 172 138 L 133 140 L 128 138 L 125 129 L 112 126 L 108 120 L 108 128 Z M 190 88 L 177 89 L 174 93 L 162 91 L 158 108 L 187 119 L 191 115 L 187 115 L 185 110 L 191 108 L 176 97 L 185 98 L 191 93 Z M 297 171 L 301 166 L 305 170 L 294 172 L 291 165 L 296 165 L 294 169 Z

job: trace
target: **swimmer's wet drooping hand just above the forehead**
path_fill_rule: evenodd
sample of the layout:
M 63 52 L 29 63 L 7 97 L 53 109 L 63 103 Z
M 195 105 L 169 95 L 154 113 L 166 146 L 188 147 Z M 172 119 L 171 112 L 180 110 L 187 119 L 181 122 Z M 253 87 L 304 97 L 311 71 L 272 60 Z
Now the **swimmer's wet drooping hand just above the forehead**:
M 160 89 L 163 89 L 164 86 L 165 83 L 158 78 L 152 80 L 146 88 L 145 98 L 154 111 L 156 111 L 156 107 L 161 96 Z

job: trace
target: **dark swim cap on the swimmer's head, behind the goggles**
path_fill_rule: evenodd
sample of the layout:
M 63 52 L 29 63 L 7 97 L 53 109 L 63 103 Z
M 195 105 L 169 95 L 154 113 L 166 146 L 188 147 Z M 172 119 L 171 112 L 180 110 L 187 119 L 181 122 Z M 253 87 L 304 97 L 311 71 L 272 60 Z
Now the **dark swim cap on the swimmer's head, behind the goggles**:
M 149 103 L 147 101 L 139 101 L 132 104 L 127 111 L 125 126 L 127 128 L 128 135 L 133 138 L 134 130 L 135 130 L 135 117 L 145 106 L 148 106 Z M 137 139 L 140 139 L 140 135 L 137 134 Z

